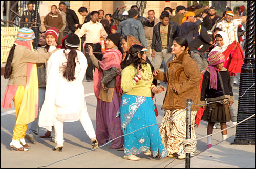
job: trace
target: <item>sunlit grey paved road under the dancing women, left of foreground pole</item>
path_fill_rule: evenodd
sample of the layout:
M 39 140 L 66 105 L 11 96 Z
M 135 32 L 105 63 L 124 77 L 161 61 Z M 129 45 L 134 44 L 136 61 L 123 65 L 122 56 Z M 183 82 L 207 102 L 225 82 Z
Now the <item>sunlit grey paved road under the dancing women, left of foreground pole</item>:
M 1 76 L 1 102 L 4 95 L 4 90 L 7 85 L 7 80 Z M 92 119 L 95 128 L 95 113 L 96 113 L 96 98 L 93 95 L 93 83 L 83 82 L 87 108 L 89 116 Z M 161 83 L 164 87 L 166 84 Z M 234 95 L 238 100 L 238 86 L 234 87 Z M 156 103 L 159 110 L 157 122 L 163 119 L 163 111 L 161 110 L 164 93 L 158 94 Z M 237 101 L 234 103 L 234 108 L 237 109 Z M 12 139 L 13 128 L 15 124 L 15 109 L 1 108 L 1 168 L 36 168 L 40 166 L 48 166 L 47 168 L 163 168 L 174 160 L 174 158 L 155 159 L 140 154 L 140 161 L 124 160 L 123 152 L 116 149 L 108 149 L 110 144 L 88 153 L 84 153 L 91 149 L 90 139 L 84 132 L 79 121 L 65 123 L 64 138 L 65 143 L 62 152 L 54 152 L 55 143 L 49 138 L 36 138 L 34 144 L 30 143 L 31 148 L 28 152 L 10 151 L 9 143 Z M 231 126 L 232 122 L 228 122 L 227 126 Z M 30 125 L 29 125 L 30 127 Z M 29 128 L 28 127 L 28 128 Z M 207 122 L 202 121 L 200 126 L 196 128 L 197 138 L 206 135 Z M 214 132 L 220 129 L 214 129 Z M 40 128 L 39 135 L 46 132 Z M 232 136 L 235 133 L 235 128 L 228 130 L 228 135 Z M 221 133 L 216 134 L 212 138 L 212 144 L 216 145 L 222 142 Z M 207 138 L 197 142 L 198 153 L 206 150 Z M 255 151 L 254 151 L 255 154 Z M 192 158 L 193 159 L 193 158 Z M 255 158 L 254 158 L 255 159 Z M 167 168 L 175 167 L 185 160 L 176 159 L 169 164 Z

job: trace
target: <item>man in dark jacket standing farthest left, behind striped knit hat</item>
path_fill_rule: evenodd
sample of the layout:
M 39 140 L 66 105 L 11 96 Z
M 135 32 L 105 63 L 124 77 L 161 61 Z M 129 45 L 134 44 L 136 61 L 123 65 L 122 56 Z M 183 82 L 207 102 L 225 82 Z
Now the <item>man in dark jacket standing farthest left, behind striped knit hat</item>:
M 35 10 L 33 9 L 34 5 L 32 2 L 28 3 L 28 10 L 24 11 L 22 17 L 20 18 L 20 27 L 31 27 L 31 29 L 35 32 L 36 39 L 34 40 L 33 47 L 35 48 L 39 43 L 39 27 L 41 25 L 41 19 L 39 13 L 37 13 L 37 25 L 33 24 L 35 22 Z M 32 25 L 33 24 L 33 25 Z M 34 27 L 36 26 L 36 27 Z

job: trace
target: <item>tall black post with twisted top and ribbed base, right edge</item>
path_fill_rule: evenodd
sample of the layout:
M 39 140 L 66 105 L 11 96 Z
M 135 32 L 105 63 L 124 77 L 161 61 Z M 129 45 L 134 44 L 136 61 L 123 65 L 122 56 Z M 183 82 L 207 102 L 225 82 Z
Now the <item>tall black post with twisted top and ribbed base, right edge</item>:
M 255 113 L 255 1 L 247 1 L 246 46 L 244 64 L 241 68 L 238 119 L 241 122 Z M 252 86 L 252 87 L 251 87 Z M 251 87 L 249 90 L 246 91 Z M 246 93 L 245 93 L 246 91 Z M 243 94 L 245 95 L 241 97 Z M 233 144 L 255 145 L 255 116 L 236 128 Z

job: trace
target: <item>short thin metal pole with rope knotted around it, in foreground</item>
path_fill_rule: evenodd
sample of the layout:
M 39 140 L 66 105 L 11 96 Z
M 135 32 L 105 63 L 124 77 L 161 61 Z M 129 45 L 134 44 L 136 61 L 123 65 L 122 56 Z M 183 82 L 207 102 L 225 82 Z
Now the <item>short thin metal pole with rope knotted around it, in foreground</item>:
M 192 99 L 187 99 L 187 116 L 186 116 L 186 139 L 191 138 L 191 104 Z M 186 168 L 190 168 L 190 155 L 191 153 L 186 153 Z

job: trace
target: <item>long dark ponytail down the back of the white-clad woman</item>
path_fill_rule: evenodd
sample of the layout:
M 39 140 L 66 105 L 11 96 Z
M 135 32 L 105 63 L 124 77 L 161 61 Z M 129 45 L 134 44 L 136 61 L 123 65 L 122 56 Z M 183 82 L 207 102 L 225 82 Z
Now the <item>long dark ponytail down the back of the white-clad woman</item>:
M 66 55 L 66 50 L 70 49 L 68 56 Z M 67 62 L 62 65 L 65 66 L 65 70 L 63 72 L 63 77 L 65 77 L 68 81 L 74 81 L 75 78 L 75 68 L 76 68 L 76 58 L 77 52 L 74 48 L 67 48 L 63 52 L 67 58 Z

